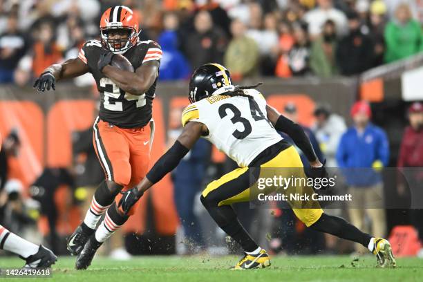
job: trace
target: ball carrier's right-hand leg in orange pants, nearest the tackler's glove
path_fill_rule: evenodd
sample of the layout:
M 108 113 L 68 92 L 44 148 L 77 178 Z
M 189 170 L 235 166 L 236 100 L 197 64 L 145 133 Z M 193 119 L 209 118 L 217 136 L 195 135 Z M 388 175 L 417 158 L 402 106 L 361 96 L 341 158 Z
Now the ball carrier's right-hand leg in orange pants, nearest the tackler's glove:
M 138 184 L 147 173 L 149 167 L 149 153 L 150 147 L 147 142 L 149 140 L 149 127 L 145 126 L 143 129 L 118 129 L 120 136 L 124 138 L 125 146 L 128 148 L 128 158 L 125 161 L 124 167 L 129 172 L 129 179 L 125 182 L 120 182 L 124 189 L 129 189 Z M 112 161 L 113 164 L 119 164 L 119 160 Z M 124 168 L 124 167 L 121 167 Z M 114 169 L 115 167 L 113 167 Z M 95 234 L 88 238 L 84 249 L 77 257 L 76 268 L 78 270 L 86 269 L 93 260 L 94 254 L 97 249 L 106 241 L 112 234 L 114 234 L 124 223 L 128 220 L 138 205 L 134 205 L 129 212 L 129 216 L 125 215 L 122 209 L 118 209 L 118 203 L 122 194 L 117 193 L 113 198 L 114 203 L 106 211 L 104 220 L 95 230 Z

